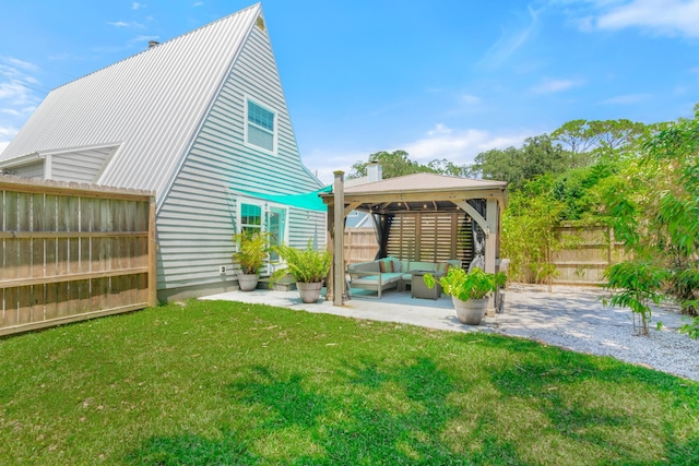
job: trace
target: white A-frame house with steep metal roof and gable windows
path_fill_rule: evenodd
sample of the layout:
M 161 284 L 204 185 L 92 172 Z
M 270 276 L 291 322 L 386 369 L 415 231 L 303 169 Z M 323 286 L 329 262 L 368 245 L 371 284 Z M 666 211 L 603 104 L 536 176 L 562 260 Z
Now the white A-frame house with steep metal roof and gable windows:
M 161 299 L 235 286 L 240 228 L 325 242 L 259 3 L 54 89 L 0 170 L 154 190 Z

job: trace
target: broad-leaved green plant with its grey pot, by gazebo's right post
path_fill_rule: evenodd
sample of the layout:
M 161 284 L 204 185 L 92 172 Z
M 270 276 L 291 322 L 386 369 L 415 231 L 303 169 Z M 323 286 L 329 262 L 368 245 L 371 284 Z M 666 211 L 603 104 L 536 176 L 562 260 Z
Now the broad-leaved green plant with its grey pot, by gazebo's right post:
M 459 321 L 469 325 L 481 324 L 488 306 L 488 297 L 498 287 L 503 286 L 506 279 L 501 272 L 490 274 L 477 267 L 469 273 L 463 268 L 451 267 L 439 280 L 433 274 L 426 274 L 424 277 L 425 285 L 429 288 L 436 283 L 441 285 L 442 290 L 451 296 Z

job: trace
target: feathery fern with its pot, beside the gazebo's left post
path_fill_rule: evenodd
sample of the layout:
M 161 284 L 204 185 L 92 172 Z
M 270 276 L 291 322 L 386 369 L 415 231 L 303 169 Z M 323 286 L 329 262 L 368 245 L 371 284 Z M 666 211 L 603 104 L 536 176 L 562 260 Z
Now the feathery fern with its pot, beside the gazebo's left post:
M 272 282 L 291 275 L 296 280 L 301 301 L 307 303 L 318 301 L 323 280 L 330 272 L 330 253 L 324 250 L 315 250 L 310 239 L 306 249 L 296 249 L 287 244 L 275 246 L 272 249 L 286 263 L 286 267 L 274 272 Z

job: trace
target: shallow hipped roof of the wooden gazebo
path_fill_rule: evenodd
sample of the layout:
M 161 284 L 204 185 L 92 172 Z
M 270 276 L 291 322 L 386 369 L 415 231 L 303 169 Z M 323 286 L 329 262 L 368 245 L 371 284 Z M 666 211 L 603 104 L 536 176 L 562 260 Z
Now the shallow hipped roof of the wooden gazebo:
M 333 193 L 321 194 L 323 202 L 333 203 Z M 453 201 L 498 199 L 507 202 L 507 182 L 414 174 L 372 183 L 345 187 L 345 204 L 357 211 L 398 214 L 425 211 L 455 211 Z

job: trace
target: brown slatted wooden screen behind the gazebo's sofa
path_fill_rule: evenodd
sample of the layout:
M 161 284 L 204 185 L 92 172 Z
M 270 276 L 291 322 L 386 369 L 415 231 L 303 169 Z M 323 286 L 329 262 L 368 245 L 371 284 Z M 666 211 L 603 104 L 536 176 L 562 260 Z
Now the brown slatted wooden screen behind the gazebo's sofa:
M 415 213 L 393 217 L 388 255 L 406 261 L 473 259 L 471 217 L 464 213 Z

